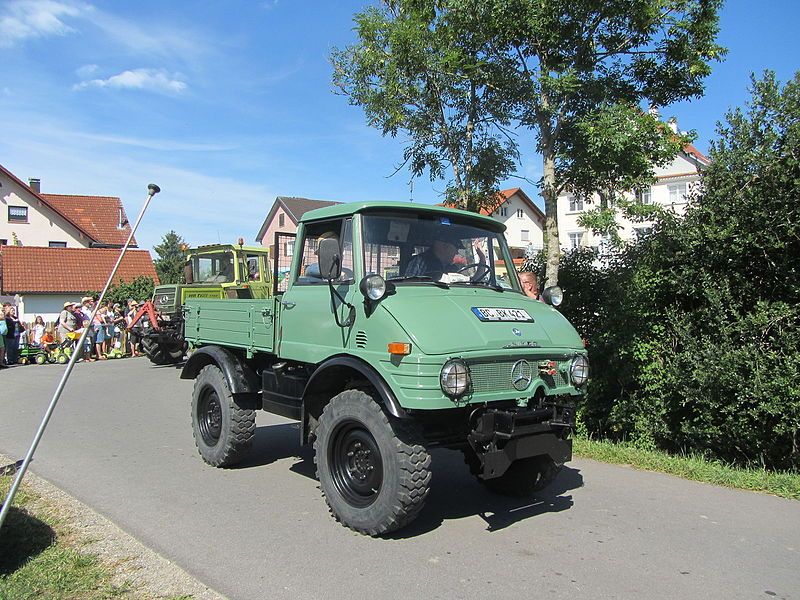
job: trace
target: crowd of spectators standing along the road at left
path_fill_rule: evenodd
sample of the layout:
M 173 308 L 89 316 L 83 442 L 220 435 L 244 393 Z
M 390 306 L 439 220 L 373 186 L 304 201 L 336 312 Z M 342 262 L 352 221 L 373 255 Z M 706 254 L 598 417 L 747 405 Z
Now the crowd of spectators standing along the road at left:
M 106 360 L 109 356 L 139 356 L 141 322 L 133 323 L 139 303 L 129 299 L 124 304 L 103 303 L 95 312 L 95 299 L 84 296 L 80 302 L 65 302 L 55 323 L 36 316 L 32 323 L 20 321 L 11 303 L 3 304 L 0 319 L 0 368 L 29 362 L 27 355 L 53 349 L 80 352 L 87 362 Z M 77 348 L 81 334 L 88 329 L 82 348 Z

